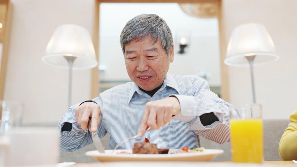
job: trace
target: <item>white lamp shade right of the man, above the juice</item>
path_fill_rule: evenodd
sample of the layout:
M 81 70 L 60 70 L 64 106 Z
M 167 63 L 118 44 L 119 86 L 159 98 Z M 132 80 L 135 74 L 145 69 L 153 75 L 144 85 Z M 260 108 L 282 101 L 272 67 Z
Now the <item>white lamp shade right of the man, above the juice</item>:
M 224 63 L 229 66 L 249 66 L 246 56 L 256 55 L 253 64 L 262 65 L 278 60 L 273 41 L 261 24 L 242 24 L 230 37 Z

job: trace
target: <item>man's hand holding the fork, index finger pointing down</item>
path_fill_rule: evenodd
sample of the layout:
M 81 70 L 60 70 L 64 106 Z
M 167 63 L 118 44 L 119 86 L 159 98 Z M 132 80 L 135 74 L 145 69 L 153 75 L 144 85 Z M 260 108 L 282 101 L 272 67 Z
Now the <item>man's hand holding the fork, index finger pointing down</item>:
M 179 112 L 180 104 L 176 97 L 167 97 L 146 103 L 138 136 L 143 136 L 148 127 L 159 129 L 171 121 L 171 118 Z

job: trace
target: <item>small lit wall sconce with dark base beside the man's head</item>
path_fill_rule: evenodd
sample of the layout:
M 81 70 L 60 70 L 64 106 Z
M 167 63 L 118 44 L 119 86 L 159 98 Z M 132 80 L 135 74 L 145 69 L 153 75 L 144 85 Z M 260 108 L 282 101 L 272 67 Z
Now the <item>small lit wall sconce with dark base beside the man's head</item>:
M 177 32 L 177 40 L 176 42 L 179 44 L 179 54 L 185 54 L 185 48 L 189 46 L 190 41 L 190 31 L 178 31 Z

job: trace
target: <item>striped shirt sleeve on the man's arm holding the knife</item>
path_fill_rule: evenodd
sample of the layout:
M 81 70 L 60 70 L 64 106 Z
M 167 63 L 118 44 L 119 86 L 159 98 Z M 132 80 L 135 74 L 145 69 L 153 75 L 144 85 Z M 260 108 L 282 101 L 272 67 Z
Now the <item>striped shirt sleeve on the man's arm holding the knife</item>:
M 100 119 L 100 124 L 97 129 L 97 133 L 99 137 L 105 136 L 107 131 L 105 130 L 105 127 L 102 123 L 103 119 L 103 101 L 101 96 L 96 97 L 93 99 L 101 108 L 101 119 Z M 79 148 L 84 147 L 85 145 L 88 145 L 90 143 L 93 143 L 92 139 L 92 133 L 88 130 L 82 130 L 81 126 L 76 123 L 75 119 L 75 108 L 77 108 L 81 103 L 78 103 L 76 105 L 71 106 L 62 119 L 60 120 L 58 124 L 58 130 L 60 132 L 60 148 L 61 150 L 66 150 L 66 151 L 75 151 Z M 71 131 L 62 131 L 62 127 L 65 122 L 72 123 L 72 129 Z

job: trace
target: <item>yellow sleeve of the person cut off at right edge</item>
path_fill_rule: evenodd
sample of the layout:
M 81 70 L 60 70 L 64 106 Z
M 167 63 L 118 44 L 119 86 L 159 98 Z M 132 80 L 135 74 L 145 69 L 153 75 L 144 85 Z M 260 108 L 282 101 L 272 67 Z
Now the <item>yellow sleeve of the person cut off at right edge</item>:
M 297 160 L 297 110 L 290 116 L 290 123 L 278 145 L 282 160 Z

